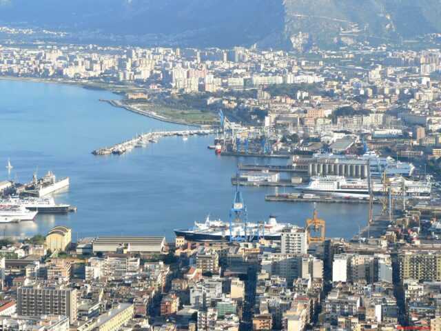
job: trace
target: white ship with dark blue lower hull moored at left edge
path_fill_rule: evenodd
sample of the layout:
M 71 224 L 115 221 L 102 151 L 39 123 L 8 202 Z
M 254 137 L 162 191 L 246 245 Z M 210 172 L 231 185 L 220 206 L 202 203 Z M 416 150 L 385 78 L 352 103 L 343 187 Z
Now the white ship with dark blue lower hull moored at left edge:
M 0 203 L 23 205 L 27 210 L 37 211 L 46 214 L 67 213 L 72 210 L 70 205 L 55 203 L 53 197 L 8 197 L 0 200 Z

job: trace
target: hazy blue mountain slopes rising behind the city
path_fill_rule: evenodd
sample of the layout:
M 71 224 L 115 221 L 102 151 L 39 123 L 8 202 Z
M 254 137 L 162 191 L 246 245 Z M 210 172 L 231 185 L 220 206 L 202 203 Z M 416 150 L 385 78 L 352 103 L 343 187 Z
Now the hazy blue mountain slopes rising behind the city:
M 441 32 L 440 17 L 441 0 L 0 0 L 2 23 L 156 35 L 183 46 L 411 38 Z

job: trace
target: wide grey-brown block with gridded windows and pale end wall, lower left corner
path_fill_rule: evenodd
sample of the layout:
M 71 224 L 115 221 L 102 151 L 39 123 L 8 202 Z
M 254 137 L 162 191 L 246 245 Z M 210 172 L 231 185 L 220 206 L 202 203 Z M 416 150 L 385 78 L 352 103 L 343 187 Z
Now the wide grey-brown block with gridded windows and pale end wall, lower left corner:
M 17 290 L 19 316 L 63 315 L 76 321 L 76 289 L 23 286 Z

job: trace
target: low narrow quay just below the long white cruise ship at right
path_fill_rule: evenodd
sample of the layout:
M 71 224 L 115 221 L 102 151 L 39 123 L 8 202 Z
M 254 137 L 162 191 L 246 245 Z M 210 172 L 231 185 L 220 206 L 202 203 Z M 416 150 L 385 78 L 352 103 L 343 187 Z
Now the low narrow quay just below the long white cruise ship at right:
M 323 197 L 314 194 L 275 194 L 266 195 L 265 201 L 273 202 L 320 202 L 320 203 L 369 203 L 368 198 L 339 198 L 339 197 Z M 374 199 L 373 203 L 380 203 L 378 199 Z

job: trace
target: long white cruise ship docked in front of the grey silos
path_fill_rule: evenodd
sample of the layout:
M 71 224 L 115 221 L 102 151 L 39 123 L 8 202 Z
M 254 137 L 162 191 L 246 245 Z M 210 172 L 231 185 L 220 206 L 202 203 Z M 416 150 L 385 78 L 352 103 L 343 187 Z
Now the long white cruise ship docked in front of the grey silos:
M 401 196 L 403 189 L 405 197 L 412 199 L 430 199 L 430 181 L 411 181 L 402 176 L 389 177 L 387 179 L 391 193 Z M 296 188 L 302 192 L 314 192 L 316 194 L 329 194 L 335 197 L 369 197 L 367 179 L 350 179 L 342 176 L 315 176 L 307 185 Z M 382 195 L 384 185 L 379 179 L 372 180 L 372 192 L 374 196 Z

